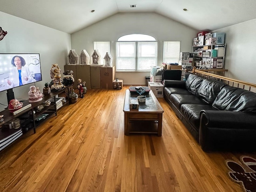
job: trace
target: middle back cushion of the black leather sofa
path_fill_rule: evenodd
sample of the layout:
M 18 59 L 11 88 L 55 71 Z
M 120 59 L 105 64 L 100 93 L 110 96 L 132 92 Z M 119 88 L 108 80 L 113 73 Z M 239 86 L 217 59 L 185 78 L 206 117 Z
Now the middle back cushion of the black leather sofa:
M 204 79 L 196 92 L 196 96 L 212 104 L 220 90 L 227 85 L 228 84 L 218 80 Z

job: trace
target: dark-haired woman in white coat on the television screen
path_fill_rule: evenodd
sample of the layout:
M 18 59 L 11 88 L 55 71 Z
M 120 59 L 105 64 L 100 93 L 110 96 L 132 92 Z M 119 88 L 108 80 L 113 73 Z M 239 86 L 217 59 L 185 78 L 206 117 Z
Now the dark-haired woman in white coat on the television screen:
M 10 70 L 8 85 L 12 87 L 22 86 L 34 82 L 34 78 L 29 68 L 26 67 L 26 61 L 21 56 L 14 56 L 11 64 L 14 68 Z

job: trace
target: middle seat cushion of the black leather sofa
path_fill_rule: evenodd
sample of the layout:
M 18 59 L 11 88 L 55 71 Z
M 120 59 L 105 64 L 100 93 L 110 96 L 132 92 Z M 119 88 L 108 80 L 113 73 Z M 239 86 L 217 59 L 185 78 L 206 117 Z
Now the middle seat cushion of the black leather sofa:
M 174 93 L 174 94 L 171 94 L 170 100 L 179 110 L 180 110 L 180 106 L 185 103 L 202 104 L 202 105 L 206 104 L 206 102 L 204 102 L 202 99 L 192 94 Z

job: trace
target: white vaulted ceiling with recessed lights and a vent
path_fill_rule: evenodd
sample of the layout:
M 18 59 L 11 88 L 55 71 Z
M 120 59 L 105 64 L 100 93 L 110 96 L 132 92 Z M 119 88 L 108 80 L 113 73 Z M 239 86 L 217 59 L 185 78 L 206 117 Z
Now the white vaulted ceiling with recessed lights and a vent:
M 255 19 L 256 1 L 1 0 L 0 11 L 70 34 L 118 12 L 154 12 L 198 31 L 212 31 Z

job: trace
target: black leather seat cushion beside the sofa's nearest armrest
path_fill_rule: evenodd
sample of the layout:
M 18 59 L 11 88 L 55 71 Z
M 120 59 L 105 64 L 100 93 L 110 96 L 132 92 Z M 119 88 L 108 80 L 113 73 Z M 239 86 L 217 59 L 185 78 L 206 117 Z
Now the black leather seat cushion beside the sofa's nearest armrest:
M 205 104 L 182 104 L 180 112 L 189 122 L 199 129 L 200 127 L 200 111 L 201 110 L 218 110 L 211 105 Z

